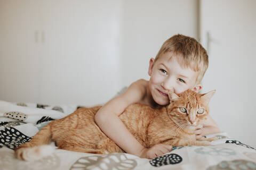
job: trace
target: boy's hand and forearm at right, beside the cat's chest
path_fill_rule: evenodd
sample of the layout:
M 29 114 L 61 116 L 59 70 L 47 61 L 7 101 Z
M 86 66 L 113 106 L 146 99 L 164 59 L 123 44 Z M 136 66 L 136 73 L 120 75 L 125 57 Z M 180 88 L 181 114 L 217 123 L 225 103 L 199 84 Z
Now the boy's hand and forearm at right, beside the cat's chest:
M 203 128 L 196 130 L 196 139 L 200 139 L 207 134 L 219 133 L 220 128 L 217 123 L 211 118 L 210 115 L 207 116 L 207 119 L 204 121 Z

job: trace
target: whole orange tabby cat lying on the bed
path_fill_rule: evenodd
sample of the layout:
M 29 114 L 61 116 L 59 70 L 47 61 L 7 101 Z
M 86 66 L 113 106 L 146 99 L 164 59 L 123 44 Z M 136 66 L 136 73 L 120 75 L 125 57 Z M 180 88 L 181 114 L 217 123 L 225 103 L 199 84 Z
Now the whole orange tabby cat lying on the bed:
M 119 118 L 146 148 L 158 143 L 173 147 L 210 145 L 207 141 L 215 138 L 202 138 L 197 141 L 194 132 L 196 126 L 209 114 L 208 103 L 214 92 L 215 90 L 212 90 L 203 95 L 191 90 L 179 95 L 170 92 L 168 106 L 153 109 L 141 104 L 132 104 Z M 60 120 L 50 122 L 33 139 L 15 149 L 15 155 L 23 160 L 47 156 L 54 151 L 54 148 L 47 145 L 51 141 L 54 141 L 59 149 L 71 151 L 93 154 L 124 152 L 95 124 L 94 115 L 99 109 L 100 106 L 79 108 Z

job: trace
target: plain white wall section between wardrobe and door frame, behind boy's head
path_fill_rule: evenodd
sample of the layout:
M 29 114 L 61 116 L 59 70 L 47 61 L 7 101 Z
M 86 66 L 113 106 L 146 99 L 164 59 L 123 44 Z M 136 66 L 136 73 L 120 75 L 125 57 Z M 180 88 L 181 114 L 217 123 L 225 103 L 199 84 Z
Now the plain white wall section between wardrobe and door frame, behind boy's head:
M 125 1 L 122 80 L 149 79 L 148 66 L 164 41 L 182 33 L 197 38 L 197 1 Z

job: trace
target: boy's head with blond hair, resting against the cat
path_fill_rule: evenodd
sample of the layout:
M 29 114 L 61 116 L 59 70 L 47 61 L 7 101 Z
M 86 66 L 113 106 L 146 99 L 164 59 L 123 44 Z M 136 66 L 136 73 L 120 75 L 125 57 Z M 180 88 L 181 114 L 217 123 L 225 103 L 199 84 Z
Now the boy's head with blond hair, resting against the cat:
M 167 91 L 179 94 L 192 89 L 198 92 L 207 67 L 208 55 L 196 39 L 183 35 L 167 39 L 155 59 L 149 62 L 149 89 L 154 100 L 165 105 L 169 101 Z

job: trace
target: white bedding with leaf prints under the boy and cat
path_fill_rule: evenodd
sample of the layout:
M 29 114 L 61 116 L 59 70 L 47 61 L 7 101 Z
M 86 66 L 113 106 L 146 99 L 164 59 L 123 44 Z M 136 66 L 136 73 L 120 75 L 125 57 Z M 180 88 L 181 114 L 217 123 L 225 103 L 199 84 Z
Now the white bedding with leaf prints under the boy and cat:
M 29 141 L 44 125 L 74 112 L 77 105 L 8 103 L 0 100 L 0 169 L 256 169 L 256 149 L 228 137 L 216 136 L 212 146 L 186 146 L 153 160 L 130 154 L 95 155 L 57 149 L 49 157 L 23 162 L 14 149 Z M 52 142 L 51 145 L 54 145 Z

